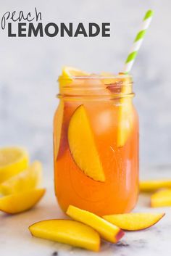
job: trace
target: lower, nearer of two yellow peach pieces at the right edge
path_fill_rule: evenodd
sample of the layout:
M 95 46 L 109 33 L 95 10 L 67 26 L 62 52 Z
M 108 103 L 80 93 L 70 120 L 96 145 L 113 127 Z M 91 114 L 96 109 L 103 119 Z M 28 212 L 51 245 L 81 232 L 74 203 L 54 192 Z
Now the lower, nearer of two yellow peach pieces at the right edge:
M 151 207 L 171 206 L 171 189 L 164 189 L 151 195 Z

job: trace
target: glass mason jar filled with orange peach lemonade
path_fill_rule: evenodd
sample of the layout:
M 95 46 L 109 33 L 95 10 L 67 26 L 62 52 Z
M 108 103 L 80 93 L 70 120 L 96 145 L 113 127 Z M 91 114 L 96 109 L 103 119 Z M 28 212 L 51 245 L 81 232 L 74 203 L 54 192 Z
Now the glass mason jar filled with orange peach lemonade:
M 130 75 L 59 77 L 54 184 L 60 207 L 109 215 L 138 197 L 138 115 Z

